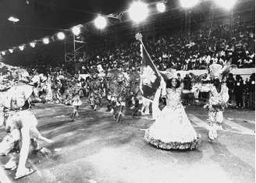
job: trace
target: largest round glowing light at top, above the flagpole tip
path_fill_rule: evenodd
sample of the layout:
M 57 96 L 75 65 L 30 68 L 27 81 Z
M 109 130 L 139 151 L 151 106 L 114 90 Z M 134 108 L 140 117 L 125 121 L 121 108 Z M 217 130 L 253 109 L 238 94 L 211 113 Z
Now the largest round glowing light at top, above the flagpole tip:
M 144 2 L 133 2 L 128 12 L 130 19 L 140 23 L 148 17 L 148 5 Z

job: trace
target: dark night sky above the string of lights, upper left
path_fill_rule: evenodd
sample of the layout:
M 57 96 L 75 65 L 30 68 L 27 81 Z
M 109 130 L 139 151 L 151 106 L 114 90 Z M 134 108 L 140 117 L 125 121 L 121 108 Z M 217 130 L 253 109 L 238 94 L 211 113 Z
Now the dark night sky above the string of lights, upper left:
M 0 0 L 0 50 L 40 39 L 58 32 L 58 29 L 66 29 L 94 19 L 96 15 L 87 12 L 105 15 L 122 12 L 132 2 L 132 0 L 28 1 L 29 5 L 26 4 L 26 0 Z M 9 16 L 16 16 L 20 22 L 10 23 L 7 20 Z

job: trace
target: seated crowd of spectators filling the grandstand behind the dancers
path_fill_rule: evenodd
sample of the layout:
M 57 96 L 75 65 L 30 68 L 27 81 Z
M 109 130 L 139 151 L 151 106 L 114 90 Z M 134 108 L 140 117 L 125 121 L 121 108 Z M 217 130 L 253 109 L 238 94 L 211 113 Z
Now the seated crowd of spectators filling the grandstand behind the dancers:
M 230 58 L 238 68 L 253 68 L 255 65 L 254 31 L 244 28 L 236 30 L 232 36 L 222 35 L 224 30 L 197 31 L 185 35 L 161 36 L 144 40 L 151 59 L 159 70 L 169 68 L 177 70 L 205 69 L 211 62 L 225 65 Z M 122 68 L 129 70 L 140 65 L 139 42 L 131 40 L 119 44 L 117 48 L 93 51 L 85 65 L 102 64 L 104 69 Z

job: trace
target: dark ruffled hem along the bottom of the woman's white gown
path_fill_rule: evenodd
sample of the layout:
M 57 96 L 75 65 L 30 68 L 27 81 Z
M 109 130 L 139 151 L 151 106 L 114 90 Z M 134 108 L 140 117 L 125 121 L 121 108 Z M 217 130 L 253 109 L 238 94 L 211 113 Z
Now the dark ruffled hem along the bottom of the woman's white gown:
M 164 143 L 159 139 L 150 138 L 149 135 L 145 134 L 144 140 L 147 143 L 157 147 L 162 150 L 196 150 L 198 146 L 201 145 L 201 136 L 197 136 L 197 139 L 194 139 L 191 142 L 180 143 L 180 142 L 170 142 Z

